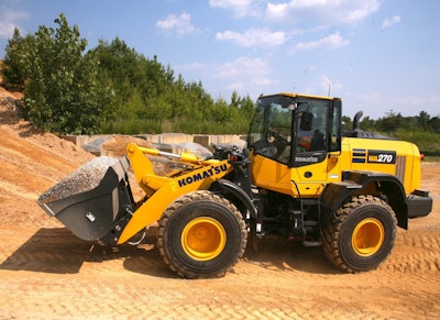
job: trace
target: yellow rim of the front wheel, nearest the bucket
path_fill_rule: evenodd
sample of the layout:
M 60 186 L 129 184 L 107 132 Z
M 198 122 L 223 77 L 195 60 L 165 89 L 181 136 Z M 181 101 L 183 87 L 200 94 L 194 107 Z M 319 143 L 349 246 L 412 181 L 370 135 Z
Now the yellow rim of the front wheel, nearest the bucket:
M 212 218 L 191 220 L 182 233 L 182 247 L 194 260 L 208 261 L 224 249 L 227 233 L 221 223 Z

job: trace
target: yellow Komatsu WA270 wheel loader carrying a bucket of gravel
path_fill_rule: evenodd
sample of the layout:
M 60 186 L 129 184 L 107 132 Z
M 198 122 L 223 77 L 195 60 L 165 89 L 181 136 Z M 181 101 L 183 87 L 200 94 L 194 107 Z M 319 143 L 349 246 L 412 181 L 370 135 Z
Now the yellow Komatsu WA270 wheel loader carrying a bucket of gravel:
M 138 244 L 155 225 L 161 256 L 185 278 L 223 276 L 248 243 L 257 249 L 270 234 L 320 245 L 345 272 L 374 269 L 397 227 L 429 214 L 432 199 L 420 189 L 418 147 L 361 131 L 362 114 L 342 132 L 341 108 L 339 98 L 261 96 L 244 150 L 216 146 L 202 158 L 131 143 L 97 184 L 77 187 L 96 174 L 88 166 L 79 181 L 62 180 L 37 202 L 78 238 L 110 246 Z M 156 175 L 152 156 L 173 169 Z

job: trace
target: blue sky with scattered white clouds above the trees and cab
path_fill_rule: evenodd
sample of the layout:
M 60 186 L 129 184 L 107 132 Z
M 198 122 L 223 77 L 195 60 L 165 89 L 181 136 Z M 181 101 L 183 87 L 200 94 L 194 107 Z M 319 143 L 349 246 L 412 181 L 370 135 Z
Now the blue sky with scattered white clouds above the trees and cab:
M 0 58 L 14 27 L 64 13 L 88 49 L 117 36 L 212 98 L 235 90 L 342 98 L 343 114 L 440 115 L 438 0 L 0 0 Z

